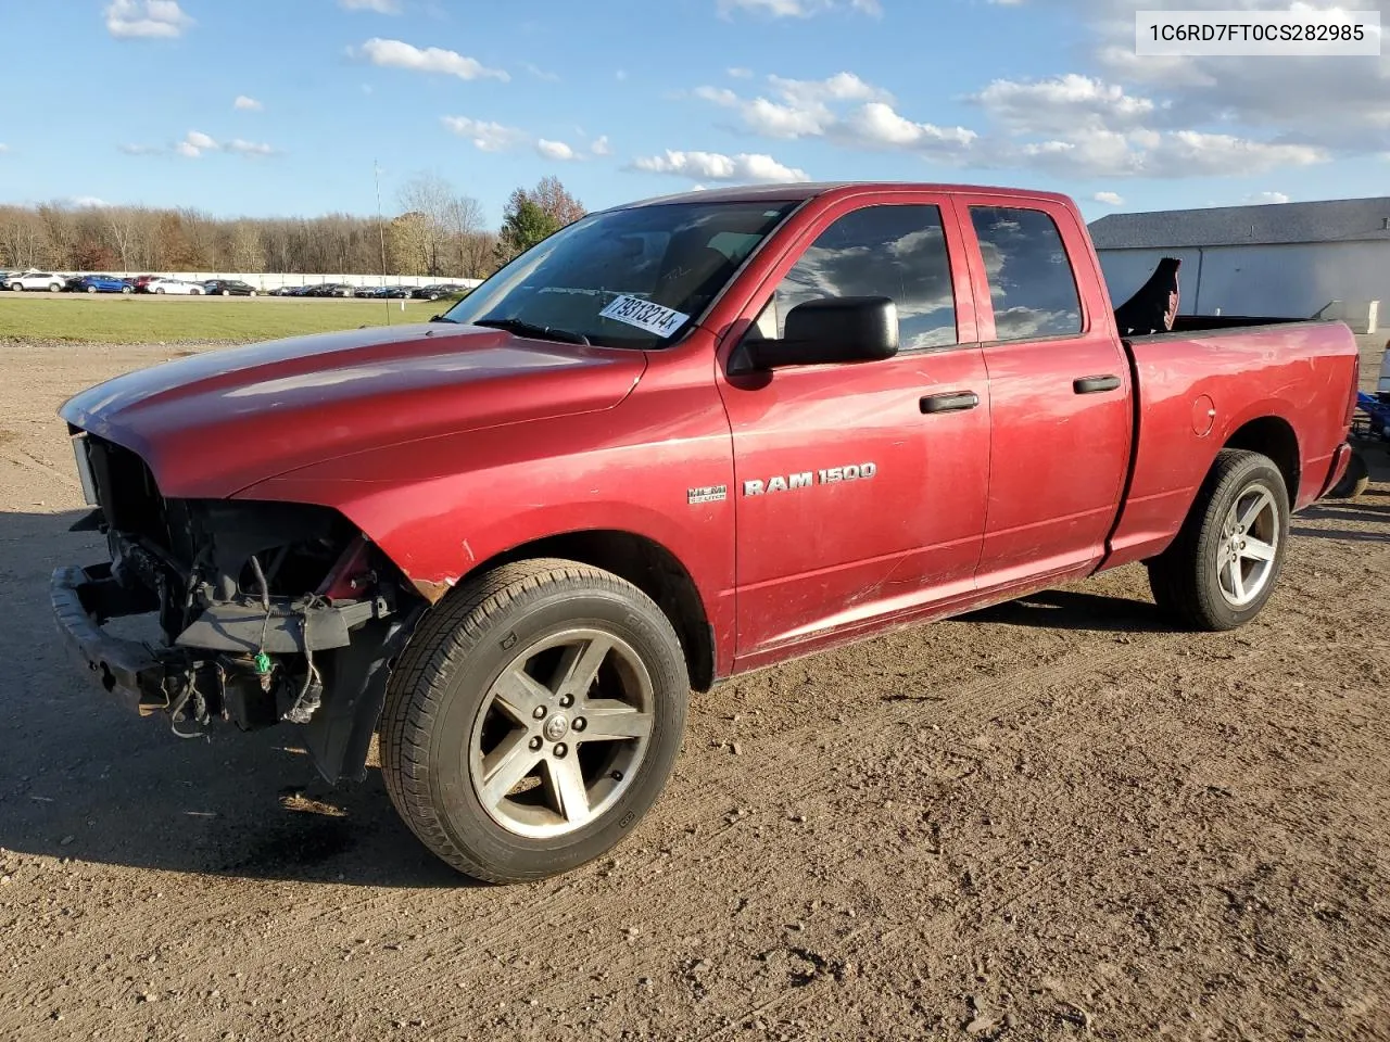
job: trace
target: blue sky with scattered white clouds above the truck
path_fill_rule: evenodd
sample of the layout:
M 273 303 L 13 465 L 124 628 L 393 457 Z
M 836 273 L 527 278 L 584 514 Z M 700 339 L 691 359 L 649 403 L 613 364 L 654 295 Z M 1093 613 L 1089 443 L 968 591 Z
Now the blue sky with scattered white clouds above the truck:
M 589 208 L 788 178 L 1054 189 L 1091 218 L 1386 193 L 1384 57 L 1136 58 L 1133 11 L 1165 6 L 1287 8 L 0 0 L 0 203 L 367 214 L 374 160 L 388 213 L 434 172 L 489 224 L 546 174 Z

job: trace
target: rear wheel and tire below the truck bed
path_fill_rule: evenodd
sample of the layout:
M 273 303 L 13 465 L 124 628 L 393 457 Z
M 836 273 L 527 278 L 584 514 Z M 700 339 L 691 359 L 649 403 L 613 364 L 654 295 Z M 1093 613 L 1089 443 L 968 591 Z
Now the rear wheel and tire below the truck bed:
M 1154 600 L 1191 629 L 1243 627 L 1273 593 L 1287 546 L 1283 474 L 1266 456 L 1222 449 L 1173 545 L 1147 563 Z

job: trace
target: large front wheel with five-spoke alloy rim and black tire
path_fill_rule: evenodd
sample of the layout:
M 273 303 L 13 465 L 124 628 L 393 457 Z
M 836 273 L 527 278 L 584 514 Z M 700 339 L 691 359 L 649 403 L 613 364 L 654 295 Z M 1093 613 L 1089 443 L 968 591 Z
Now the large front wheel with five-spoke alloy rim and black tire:
M 598 642 L 609 645 L 602 668 L 582 668 Z M 563 661 L 595 679 L 556 679 Z M 550 679 L 527 679 L 523 668 Z M 588 699 L 595 682 L 603 707 Z M 450 592 L 402 653 L 382 711 L 386 792 L 460 873 L 499 884 L 556 875 L 621 842 L 656 802 L 688 695 L 676 631 L 635 586 L 573 561 L 506 564 Z M 489 772 L 509 763 L 516 770 L 493 774 L 488 793 Z M 567 814 L 575 785 L 582 803 Z

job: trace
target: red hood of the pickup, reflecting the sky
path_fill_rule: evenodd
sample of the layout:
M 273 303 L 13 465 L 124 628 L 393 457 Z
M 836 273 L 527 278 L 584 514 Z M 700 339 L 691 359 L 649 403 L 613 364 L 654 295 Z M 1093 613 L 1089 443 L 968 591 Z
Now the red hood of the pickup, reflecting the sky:
M 645 365 L 634 350 L 398 325 L 179 358 L 58 414 L 139 453 L 164 496 L 218 499 L 364 449 L 612 408 Z

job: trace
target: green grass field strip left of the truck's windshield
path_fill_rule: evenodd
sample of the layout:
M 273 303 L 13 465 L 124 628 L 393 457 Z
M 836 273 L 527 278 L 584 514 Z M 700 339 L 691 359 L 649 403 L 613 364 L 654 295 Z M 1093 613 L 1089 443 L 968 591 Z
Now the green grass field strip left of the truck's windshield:
M 0 339 L 171 343 L 272 340 L 361 325 L 424 322 L 449 300 L 295 300 L 0 293 Z

